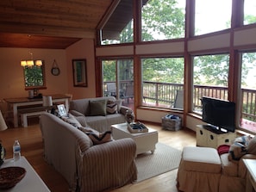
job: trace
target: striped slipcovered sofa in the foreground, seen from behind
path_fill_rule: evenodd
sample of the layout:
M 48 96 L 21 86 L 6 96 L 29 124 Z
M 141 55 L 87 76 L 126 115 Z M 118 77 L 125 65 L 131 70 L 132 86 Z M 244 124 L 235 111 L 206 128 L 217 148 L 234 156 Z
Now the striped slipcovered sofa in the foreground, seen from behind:
M 72 122 L 64 121 L 46 112 L 40 118 L 44 158 L 65 177 L 70 191 L 103 191 L 134 182 L 134 140 L 118 139 L 95 145 L 88 134 L 79 130 L 90 127 L 81 127 L 72 117 Z

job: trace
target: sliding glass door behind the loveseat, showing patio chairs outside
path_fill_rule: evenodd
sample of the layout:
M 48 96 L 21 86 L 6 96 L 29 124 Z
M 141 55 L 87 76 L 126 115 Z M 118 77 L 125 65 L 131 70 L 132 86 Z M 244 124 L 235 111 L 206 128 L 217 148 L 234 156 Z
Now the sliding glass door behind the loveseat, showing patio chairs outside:
M 133 59 L 106 59 L 103 65 L 103 95 L 122 99 L 122 104 L 134 108 Z

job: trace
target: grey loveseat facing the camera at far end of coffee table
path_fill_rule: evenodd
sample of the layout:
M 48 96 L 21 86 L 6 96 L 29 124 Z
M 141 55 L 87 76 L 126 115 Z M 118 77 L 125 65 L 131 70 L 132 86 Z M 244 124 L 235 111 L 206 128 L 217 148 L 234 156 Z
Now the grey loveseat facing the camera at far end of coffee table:
M 84 127 L 92 127 L 98 132 L 111 129 L 111 125 L 126 122 L 126 112 L 131 108 L 122 106 L 122 100 L 114 96 L 83 98 L 70 102 L 70 113 Z

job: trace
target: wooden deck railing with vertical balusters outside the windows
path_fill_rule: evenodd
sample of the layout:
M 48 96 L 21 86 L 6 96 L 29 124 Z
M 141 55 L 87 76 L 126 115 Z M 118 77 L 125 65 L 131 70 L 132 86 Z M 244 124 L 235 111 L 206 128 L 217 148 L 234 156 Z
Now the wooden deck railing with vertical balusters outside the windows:
M 105 82 L 107 84 L 109 82 Z M 120 90 L 132 81 L 121 81 Z M 143 103 L 147 106 L 172 108 L 178 90 L 183 90 L 184 84 L 169 84 L 144 81 L 142 85 Z M 228 88 L 222 86 L 194 85 L 193 108 L 202 111 L 201 98 L 211 96 L 223 100 L 228 100 Z M 241 89 L 243 99 L 241 115 L 243 119 L 256 121 L 256 90 Z

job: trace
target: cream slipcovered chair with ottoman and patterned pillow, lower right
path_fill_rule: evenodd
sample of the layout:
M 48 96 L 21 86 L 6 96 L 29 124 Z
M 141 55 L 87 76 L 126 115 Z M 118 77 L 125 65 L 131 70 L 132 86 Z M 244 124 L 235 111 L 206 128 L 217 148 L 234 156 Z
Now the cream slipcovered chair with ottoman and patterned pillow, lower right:
M 256 137 L 242 136 L 231 146 L 186 146 L 178 167 L 177 186 L 184 192 L 244 192 L 244 158 L 256 159 Z

